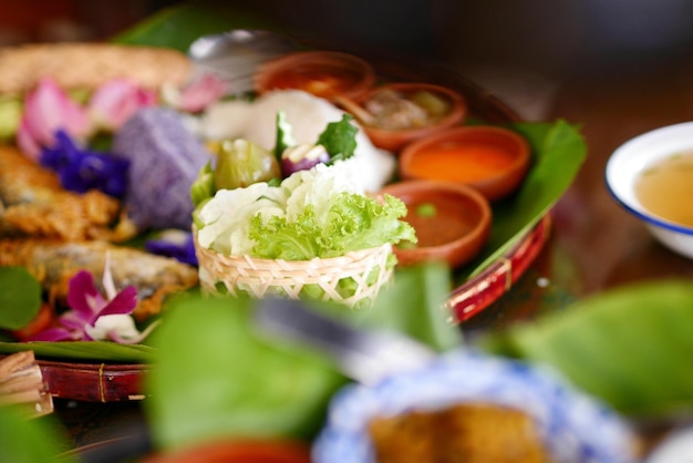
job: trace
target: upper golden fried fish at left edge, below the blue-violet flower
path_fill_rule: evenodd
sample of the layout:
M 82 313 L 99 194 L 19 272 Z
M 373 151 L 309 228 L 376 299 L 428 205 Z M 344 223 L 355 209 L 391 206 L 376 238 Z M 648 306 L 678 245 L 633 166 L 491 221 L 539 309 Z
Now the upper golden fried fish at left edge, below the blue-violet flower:
M 0 146 L 0 237 L 122 241 L 136 234 L 120 200 L 99 191 L 68 192 L 55 173 Z

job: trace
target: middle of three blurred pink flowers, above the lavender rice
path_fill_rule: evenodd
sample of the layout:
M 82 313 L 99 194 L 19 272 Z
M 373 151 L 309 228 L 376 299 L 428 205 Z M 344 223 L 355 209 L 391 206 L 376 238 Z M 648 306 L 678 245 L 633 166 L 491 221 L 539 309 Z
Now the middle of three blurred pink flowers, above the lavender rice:
M 139 109 L 155 103 L 154 91 L 126 79 L 114 79 L 96 89 L 89 101 L 87 111 L 96 126 L 115 131 Z

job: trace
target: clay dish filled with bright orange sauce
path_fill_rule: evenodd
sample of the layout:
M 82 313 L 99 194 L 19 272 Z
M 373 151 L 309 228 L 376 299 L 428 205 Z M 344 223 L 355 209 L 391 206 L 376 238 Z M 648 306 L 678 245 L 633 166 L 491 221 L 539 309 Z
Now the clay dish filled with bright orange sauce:
M 519 134 L 492 125 L 452 127 L 407 145 L 400 155 L 403 179 L 432 179 L 470 186 L 488 200 L 510 195 L 531 161 Z

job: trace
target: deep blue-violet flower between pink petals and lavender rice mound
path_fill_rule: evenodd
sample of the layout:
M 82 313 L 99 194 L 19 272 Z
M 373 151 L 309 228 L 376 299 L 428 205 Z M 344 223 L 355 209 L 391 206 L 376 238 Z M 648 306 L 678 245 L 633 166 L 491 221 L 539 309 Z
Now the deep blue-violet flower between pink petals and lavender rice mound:
M 53 147 L 41 148 L 40 162 L 58 174 L 65 189 L 76 193 L 100 189 L 116 198 L 125 195 L 130 161 L 82 150 L 62 130 L 55 132 Z

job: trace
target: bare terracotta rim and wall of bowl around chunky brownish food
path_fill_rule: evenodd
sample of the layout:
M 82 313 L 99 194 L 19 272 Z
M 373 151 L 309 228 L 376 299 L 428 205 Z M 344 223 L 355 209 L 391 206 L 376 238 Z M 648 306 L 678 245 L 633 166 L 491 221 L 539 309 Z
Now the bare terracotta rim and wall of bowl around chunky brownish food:
M 415 94 L 425 92 L 434 95 L 446 106 L 442 114 L 431 117 L 431 122 L 426 122 L 423 125 L 417 124 L 400 128 L 386 127 L 374 122 L 369 122 L 365 121 L 364 117 L 359 117 L 359 114 L 354 114 L 373 144 L 383 150 L 399 152 L 407 143 L 463 123 L 467 116 L 467 102 L 461 93 L 446 86 L 431 83 L 396 82 L 379 85 L 371 89 L 355 103 L 365 110 L 369 106 L 369 102 L 383 91 L 395 92 L 402 95 L 403 99 L 411 99 Z M 344 106 L 346 111 L 350 111 L 350 107 Z

